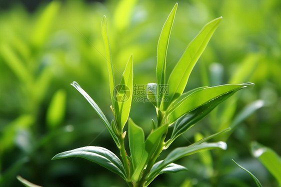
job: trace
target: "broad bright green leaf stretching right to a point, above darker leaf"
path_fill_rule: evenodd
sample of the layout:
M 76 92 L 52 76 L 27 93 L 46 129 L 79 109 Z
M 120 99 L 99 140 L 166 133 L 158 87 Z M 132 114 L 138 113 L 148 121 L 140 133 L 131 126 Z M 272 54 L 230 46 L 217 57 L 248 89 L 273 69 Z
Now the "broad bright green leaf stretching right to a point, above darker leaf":
M 187 95 L 185 98 L 175 103 L 170 107 L 166 114 L 169 123 L 174 122 L 180 116 L 194 110 L 195 108 L 206 104 L 207 102 L 227 94 L 231 91 L 237 91 L 241 88 L 251 85 L 253 83 L 243 83 L 243 84 L 225 84 L 213 87 L 207 87 L 199 89 L 192 94 Z M 221 98 L 221 97 L 220 97 Z M 223 98 L 223 97 L 222 97 Z M 207 109 L 207 108 L 205 108 Z M 212 108 L 213 109 L 213 108 Z

